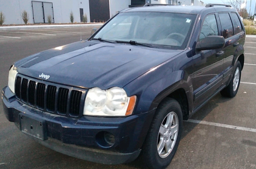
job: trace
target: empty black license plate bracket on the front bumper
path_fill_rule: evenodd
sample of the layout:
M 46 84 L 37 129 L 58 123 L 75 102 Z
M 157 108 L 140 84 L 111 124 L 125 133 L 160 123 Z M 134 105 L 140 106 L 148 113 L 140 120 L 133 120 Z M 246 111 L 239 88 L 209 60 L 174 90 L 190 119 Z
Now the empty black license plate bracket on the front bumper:
M 41 140 L 47 140 L 46 122 L 42 119 L 19 113 L 19 124 L 23 133 Z

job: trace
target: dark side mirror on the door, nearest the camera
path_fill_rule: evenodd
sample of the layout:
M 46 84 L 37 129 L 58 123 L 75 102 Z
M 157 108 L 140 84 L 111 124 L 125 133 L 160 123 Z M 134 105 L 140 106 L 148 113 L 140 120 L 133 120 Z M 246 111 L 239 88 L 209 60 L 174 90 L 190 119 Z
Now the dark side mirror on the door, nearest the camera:
M 225 39 L 223 36 L 206 36 L 201 42 L 197 42 L 195 46 L 196 50 L 211 50 L 217 48 L 223 48 L 225 45 Z

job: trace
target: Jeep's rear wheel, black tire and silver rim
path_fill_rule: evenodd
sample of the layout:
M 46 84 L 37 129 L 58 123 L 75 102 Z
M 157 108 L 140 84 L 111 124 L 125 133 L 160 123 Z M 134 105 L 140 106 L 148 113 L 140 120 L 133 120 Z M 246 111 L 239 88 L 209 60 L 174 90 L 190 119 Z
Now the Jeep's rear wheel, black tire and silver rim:
M 234 74 L 232 76 L 231 82 L 226 88 L 220 91 L 221 95 L 227 98 L 234 98 L 237 94 L 241 79 L 241 64 L 237 61 L 237 66 L 235 67 Z

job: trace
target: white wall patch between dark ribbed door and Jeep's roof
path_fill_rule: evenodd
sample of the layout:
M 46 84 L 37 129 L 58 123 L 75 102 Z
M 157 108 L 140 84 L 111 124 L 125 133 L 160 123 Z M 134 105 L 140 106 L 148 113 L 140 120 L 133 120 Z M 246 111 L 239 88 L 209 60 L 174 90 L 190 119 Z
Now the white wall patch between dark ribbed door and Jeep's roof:
M 117 12 L 128 8 L 131 4 L 131 0 L 109 0 L 110 18 L 115 16 Z

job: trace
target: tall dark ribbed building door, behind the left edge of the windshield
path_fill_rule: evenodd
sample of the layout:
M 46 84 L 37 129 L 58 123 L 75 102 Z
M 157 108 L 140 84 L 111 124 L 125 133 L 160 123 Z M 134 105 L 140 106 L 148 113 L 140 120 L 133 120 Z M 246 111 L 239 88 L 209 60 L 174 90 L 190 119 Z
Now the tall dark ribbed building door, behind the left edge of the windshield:
M 90 22 L 106 22 L 110 18 L 109 0 L 89 0 Z

